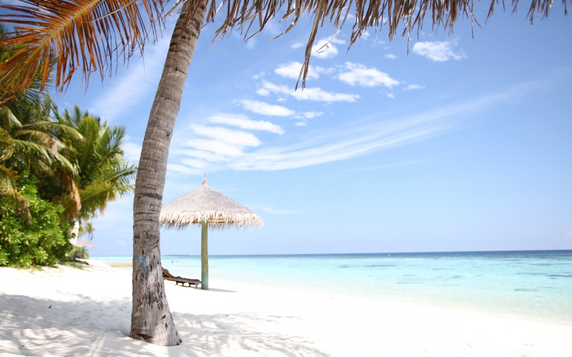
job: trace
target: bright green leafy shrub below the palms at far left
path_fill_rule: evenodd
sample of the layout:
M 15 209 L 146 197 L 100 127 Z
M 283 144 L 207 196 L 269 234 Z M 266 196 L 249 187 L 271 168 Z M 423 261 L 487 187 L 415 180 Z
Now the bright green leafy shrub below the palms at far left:
M 36 180 L 25 172 L 18 178 L 31 219 L 17 214 L 10 199 L 0 196 L 0 266 L 53 266 L 72 251 L 69 224 L 59 219 L 63 207 L 39 198 Z

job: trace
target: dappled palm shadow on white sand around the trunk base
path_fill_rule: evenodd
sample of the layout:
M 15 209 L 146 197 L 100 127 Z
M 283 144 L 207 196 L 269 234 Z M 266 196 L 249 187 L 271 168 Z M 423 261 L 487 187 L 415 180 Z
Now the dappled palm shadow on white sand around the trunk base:
M 68 301 L 0 294 L 0 352 L 42 356 L 331 357 L 300 336 L 273 332 L 280 319 L 258 314 L 173 312 L 183 342 L 161 347 L 128 337 L 129 299 Z M 261 331 L 263 330 L 263 331 Z

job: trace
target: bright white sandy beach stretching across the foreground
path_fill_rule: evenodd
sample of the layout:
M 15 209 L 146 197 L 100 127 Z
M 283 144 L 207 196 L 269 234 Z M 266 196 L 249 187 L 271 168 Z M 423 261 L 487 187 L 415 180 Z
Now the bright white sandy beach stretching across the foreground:
M 101 263 L 0 268 L 0 357 L 572 356 L 563 324 L 216 279 L 166 282 L 183 343 L 154 346 L 128 337 L 130 279 Z

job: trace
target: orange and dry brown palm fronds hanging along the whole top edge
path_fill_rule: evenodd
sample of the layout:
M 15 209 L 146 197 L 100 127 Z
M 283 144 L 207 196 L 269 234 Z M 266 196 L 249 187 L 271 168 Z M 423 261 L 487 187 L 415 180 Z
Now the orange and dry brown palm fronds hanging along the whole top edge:
M 99 71 L 104 77 L 112 73 L 112 65 L 122 55 L 127 59 L 136 50 L 142 50 L 148 32 L 138 10 L 141 2 L 148 14 L 155 34 L 157 20 L 161 22 L 163 6 L 168 0 L 22 0 L 30 6 L 2 5 L 16 14 L 0 15 L 4 22 L 11 22 L 17 30 L 14 37 L 0 40 L 0 47 L 10 47 L 15 54 L 9 62 L 0 63 L 0 92 L 2 100 L 14 97 L 18 90 L 30 85 L 33 73 L 42 71 L 42 87 L 45 86 L 50 66 L 55 62 L 55 86 L 65 90 L 72 75 L 81 67 L 84 80 Z M 572 0 L 570 0 L 572 2 Z M 223 23 L 216 31 L 215 42 L 237 28 L 248 41 L 260 33 L 272 19 L 279 17 L 290 25 L 284 35 L 310 17 L 313 21 L 305 48 L 305 61 L 299 81 L 305 86 L 312 47 L 319 27 L 325 22 L 340 32 L 348 18 L 353 18 L 348 47 L 351 47 L 367 29 L 381 30 L 387 26 L 390 41 L 395 35 L 407 35 L 422 29 L 426 16 L 431 18 L 432 30 L 443 27 L 452 31 L 459 18 L 474 18 L 474 0 L 176 0 L 169 14 L 181 4 L 186 13 L 186 23 L 191 21 L 199 7 L 206 4 L 206 22 L 214 22 L 217 15 Z M 488 18 L 494 13 L 498 0 L 491 0 Z M 527 17 L 530 22 L 536 16 L 547 17 L 552 0 L 531 0 Z M 567 13 L 567 2 L 562 0 Z M 502 2 L 503 7 L 505 3 Z M 512 0 L 513 12 L 518 0 Z M 224 9 L 225 14 L 219 14 Z M 317 51 L 323 50 L 326 43 Z M 17 46 L 22 46 L 16 48 Z M 296 84 L 297 88 L 298 84 Z

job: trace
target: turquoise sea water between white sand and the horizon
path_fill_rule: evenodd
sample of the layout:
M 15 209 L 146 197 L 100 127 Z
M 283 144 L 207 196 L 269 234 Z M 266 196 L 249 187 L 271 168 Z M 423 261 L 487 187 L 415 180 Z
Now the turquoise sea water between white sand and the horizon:
M 163 256 L 162 264 L 173 274 L 200 279 L 200 256 Z M 210 256 L 209 272 L 211 280 L 572 324 L 572 250 Z

